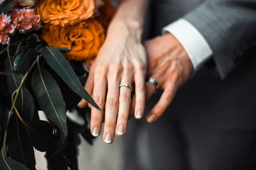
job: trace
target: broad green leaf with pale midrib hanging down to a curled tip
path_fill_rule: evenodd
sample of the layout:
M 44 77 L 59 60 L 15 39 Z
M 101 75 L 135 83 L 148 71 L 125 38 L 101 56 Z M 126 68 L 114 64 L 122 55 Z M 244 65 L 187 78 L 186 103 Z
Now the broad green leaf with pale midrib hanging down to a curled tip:
M 51 74 L 44 69 L 36 69 L 31 78 L 36 101 L 50 122 L 58 127 L 60 132 L 59 148 L 60 151 L 67 138 L 67 116 L 65 103 L 58 83 L 52 78 Z

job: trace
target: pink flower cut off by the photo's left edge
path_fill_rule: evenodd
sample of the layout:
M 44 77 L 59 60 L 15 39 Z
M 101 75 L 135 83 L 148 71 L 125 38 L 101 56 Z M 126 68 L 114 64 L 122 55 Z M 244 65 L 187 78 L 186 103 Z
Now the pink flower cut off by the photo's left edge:
M 2 13 L 0 15 L 0 43 L 2 45 L 9 44 L 10 37 L 8 34 L 13 34 L 14 31 L 15 27 L 11 24 L 11 17 Z

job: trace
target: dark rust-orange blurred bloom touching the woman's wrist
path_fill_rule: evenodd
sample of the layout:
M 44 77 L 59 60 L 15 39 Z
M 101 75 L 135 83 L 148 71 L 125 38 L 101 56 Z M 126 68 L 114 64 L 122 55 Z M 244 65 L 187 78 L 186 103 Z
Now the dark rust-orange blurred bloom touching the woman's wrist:
M 95 19 L 103 25 L 104 29 L 107 29 L 108 25 L 110 24 L 112 18 L 116 13 L 116 7 L 109 1 L 106 1 L 103 6 L 100 6 L 98 11 L 99 15 L 97 15 Z

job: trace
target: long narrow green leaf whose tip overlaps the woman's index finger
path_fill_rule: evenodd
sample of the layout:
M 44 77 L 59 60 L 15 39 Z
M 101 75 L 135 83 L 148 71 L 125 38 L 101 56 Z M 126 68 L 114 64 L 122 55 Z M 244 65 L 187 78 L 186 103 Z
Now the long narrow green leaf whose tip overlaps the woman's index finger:
M 43 55 L 49 66 L 60 75 L 60 77 L 68 84 L 68 86 L 74 90 L 79 96 L 83 97 L 88 103 L 92 104 L 93 107 L 100 110 L 99 106 L 93 101 L 92 97 L 84 90 L 81 85 L 79 78 L 77 77 L 74 69 L 70 66 L 67 59 L 63 57 L 60 50 L 46 46 L 43 48 Z

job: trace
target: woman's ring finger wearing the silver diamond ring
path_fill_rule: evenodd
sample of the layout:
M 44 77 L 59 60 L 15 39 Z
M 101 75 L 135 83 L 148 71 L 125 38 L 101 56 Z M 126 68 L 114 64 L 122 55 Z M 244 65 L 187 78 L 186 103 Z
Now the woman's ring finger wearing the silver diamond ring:
M 132 74 L 124 74 L 121 83 L 130 83 Z M 129 87 L 120 87 L 118 118 L 116 122 L 116 135 L 123 136 L 127 129 L 129 118 L 129 108 L 131 104 L 131 89 Z

